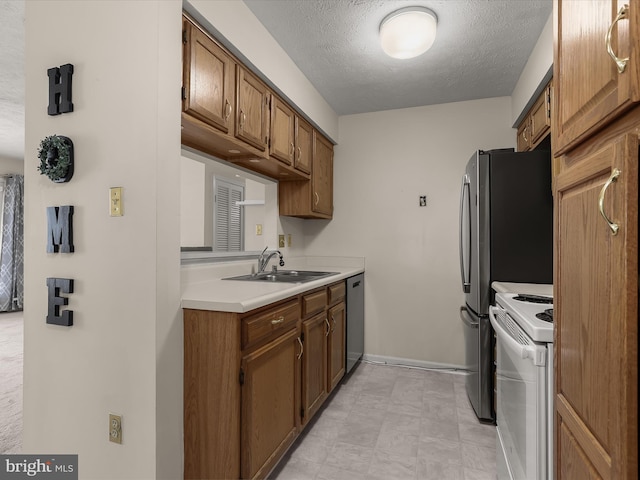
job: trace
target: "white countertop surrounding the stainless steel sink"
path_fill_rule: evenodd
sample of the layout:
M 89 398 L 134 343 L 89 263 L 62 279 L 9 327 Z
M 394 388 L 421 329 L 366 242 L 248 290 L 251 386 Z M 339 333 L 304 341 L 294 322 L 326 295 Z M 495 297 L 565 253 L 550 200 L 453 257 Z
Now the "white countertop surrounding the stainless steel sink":
M 287 260 L 287 259 L 285 259 Z M 329 285 L 364 272 L 360 257 L 300 257 L 287 260 L 285 270 L 322 270 L 336 275 L 306 283 L 262 283 L 223 280 L 252 273 L 255 262 L 182 267 L 182 308 L 245 313 L 279 300 Z

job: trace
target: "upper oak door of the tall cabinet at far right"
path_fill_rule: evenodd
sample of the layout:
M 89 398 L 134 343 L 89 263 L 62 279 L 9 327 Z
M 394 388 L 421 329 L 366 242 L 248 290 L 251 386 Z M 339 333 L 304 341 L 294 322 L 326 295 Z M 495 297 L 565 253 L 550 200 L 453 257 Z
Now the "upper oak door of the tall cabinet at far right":
M 623 3 L 626 18 L 615 19 Z M 554 150 L 564 153 L 639 100 L 638 26 L 635 2 L 554 2 Z M 629 57 L 623 72 L 607 51 Z M 561 100 L 560 100 L 561 99 Z

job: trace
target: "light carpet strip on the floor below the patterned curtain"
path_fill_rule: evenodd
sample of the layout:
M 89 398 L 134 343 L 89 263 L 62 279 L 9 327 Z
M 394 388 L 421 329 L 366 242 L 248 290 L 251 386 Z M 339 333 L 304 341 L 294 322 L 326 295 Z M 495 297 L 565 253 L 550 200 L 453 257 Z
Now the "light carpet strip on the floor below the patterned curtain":
M 22 453 L 22 312 L 0 313 L 0 453 Z

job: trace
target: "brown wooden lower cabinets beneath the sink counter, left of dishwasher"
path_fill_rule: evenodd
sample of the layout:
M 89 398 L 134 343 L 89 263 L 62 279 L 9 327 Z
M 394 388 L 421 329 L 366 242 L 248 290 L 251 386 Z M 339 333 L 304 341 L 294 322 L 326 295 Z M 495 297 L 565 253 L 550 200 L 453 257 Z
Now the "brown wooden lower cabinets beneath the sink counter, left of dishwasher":
M 344 376 L 345 290 L 184 310 L 184 478 L 269 474 Z

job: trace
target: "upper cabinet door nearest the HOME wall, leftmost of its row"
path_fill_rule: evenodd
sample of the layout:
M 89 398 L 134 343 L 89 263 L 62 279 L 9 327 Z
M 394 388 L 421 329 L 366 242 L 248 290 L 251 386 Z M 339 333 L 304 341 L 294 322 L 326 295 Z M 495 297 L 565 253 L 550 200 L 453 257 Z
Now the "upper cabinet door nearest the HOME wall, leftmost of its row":
M 184 29 L 183 110 L 224 133 L 233 133 L 235 63 L 187 20 Z

